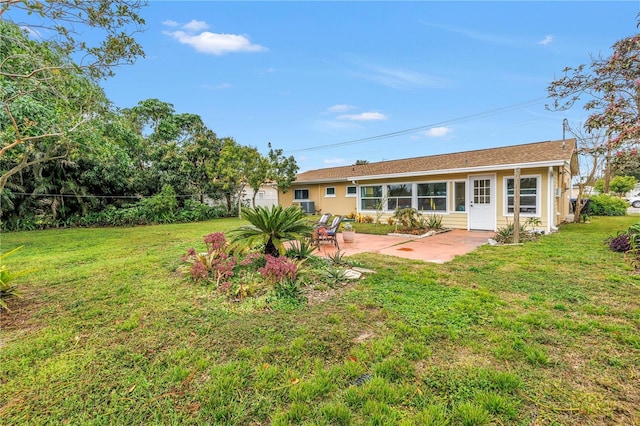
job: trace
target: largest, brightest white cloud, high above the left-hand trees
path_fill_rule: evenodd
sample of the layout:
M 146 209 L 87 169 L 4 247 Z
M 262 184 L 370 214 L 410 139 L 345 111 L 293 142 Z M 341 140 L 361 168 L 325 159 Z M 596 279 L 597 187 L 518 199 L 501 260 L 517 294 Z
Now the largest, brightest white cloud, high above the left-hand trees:
M 165 21 L 164 24 L 169 26 L 178 25 L 174 21 Z M 268 50 L 264 46 L 251 43 L 244 35 L 204 31 L 207 28 L 209 28 L 209 25 L 206 22 L 193 19 L 188 24 L 182 25 L 180 30 L 164 31 L 163 33 L 182 44 L 192 46 L 198 52 L 217 56 L 229 52 L 264 52 Z

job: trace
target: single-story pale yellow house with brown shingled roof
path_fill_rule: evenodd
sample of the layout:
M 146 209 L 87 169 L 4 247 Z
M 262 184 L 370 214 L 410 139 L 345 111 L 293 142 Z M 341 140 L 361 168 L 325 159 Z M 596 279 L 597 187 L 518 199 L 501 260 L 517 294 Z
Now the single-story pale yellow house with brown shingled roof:
M 382 221 L 413 207 L 441 215 L 448 228 L 496 231 L 513 223 L 518 172 L 521 223 L 536 218 L 549 232 L 570 218 L 575 139 L 309 170 L 280 191 L 279 202 Z

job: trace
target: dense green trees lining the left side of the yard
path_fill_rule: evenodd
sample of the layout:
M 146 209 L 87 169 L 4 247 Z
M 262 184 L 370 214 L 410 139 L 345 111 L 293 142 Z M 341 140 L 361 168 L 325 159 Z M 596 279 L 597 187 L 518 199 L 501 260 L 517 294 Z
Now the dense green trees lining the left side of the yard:
M 197 114 L 151 98 L 117 109 L 100 81 L 144 56 L 136 0 L 0 2 L 0 215 L 64 218 L 172 193 L 227 199 L 298 166 L 269 144 L 218 138 Z M 166 197 L 165 197 L 166 198 Z M 131 201 L 127 201 L 131 200 Z

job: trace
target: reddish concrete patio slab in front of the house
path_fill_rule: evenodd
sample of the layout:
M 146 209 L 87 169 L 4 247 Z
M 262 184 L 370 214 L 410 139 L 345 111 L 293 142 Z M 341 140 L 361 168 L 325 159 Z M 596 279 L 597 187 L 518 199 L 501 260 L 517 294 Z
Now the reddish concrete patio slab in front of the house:
M 338 236 L 340 250 L 345 256 L 358 253 L 377 253 L 424 262 L 444 263 L 475 250 L 493 238 L 495 232 L 454 229 L 431 237 L 356 234 L 352 243 L 345 243 Z M 338 249 L 332 244 L 322 244 L 321 256 L 333 255 Z

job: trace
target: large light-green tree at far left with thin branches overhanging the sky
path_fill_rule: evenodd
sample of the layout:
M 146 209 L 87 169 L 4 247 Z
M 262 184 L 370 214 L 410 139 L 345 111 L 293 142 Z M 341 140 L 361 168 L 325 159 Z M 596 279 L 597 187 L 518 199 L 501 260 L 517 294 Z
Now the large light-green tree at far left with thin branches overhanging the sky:
M 126 0 L 0 3 L 0 192 L 16 173 L 89 140 L 87 123 L 107 107 L 97 82 L 143 55 L 133 38 L 139 9 Z

